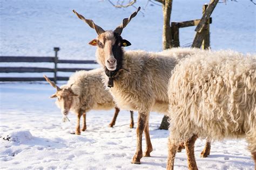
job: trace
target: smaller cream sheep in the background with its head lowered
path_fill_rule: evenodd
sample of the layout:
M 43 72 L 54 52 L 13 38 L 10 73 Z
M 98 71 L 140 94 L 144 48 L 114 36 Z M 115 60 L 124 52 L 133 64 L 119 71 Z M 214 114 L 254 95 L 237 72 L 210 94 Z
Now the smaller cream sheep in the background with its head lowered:
M 114 117 L 109 124 L 110 127 L 116 123 L 119 108 L 113 102 L 109 91 L 105 90 L 102 83 L 102 69 L 93 69 L 89 71 L 81 70 L 70 76 L 67 84 L 60 88 L 45 77 L 51 86 L 57 89 L 56 93 L 51 96 L 57 97 L 56 105 L 62 110 L 62 114 L 67 116 L 69 111 L 77 115 L 77 126 L 75 134 L 80 134 L 80 117 L 83 115 L 83 129 L 86 130 L 86 112 L 90 110 L 110 110 L 115 108 Z M 133 111 L 131 112 L 130 128 L 133 128 Z

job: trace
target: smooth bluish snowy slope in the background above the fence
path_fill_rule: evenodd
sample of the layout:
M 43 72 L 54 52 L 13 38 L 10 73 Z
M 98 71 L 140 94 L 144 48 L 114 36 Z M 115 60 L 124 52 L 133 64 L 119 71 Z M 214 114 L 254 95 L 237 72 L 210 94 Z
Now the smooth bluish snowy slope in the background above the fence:
M 208 0 L 173 1 L 171 21 L 200 19 Z M 142 6 L 136 18 L 125 27 L 122 36 L 131 42 L 126 49 L 161 51 L 163 14 L 161 6 L 139 1 Z M 152 6 L 153 5 L 153 6 Z M 146 6 L 146 7 L 145 7 Z M 0 2 L 0 55 L 53 56 L 60 47 L 60 59 L 95 59 L 95 47 L 87 45 L 96 38 L 95 30 L 78 19 L 75 9 L 105 30 L 113 30 L 134 8 L 115 9 L 108 1 L 14 1 Z M 145 9 L 145 10 L 144 10 Z M 219 3 L 212 13 L 211 47 L 255 52 L 255 5 L 249 0 Z M 180 29 L 180 44 L 191 44 L 194 29 Z

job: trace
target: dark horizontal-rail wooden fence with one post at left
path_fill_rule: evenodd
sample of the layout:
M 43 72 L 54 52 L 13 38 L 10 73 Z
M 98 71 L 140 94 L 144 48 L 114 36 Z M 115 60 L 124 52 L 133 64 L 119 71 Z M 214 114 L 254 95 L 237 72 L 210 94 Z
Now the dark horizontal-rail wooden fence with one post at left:
M 92 68 L 58 68 L 58 63 L 96 64 L 93 60 L 59 60 L 59 48 L 53 48 L 55 56 L 0 56 L 0 62 L 48 62 L 54 63 L 54 68 L 46 67 L 0 67 L 0 73 L 53 73 L 49 79 L 55 83 L 58 80 L 69 80 L 69 77 L 57 76 L 58 72 L 76 72 Z M 44 77 L 0 77 L 0 81 L 45 81 Z

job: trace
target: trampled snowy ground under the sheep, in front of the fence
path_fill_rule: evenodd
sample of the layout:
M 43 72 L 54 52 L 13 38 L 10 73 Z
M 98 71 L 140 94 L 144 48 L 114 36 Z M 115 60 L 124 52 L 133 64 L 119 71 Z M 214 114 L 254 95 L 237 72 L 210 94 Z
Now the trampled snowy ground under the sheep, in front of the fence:
M 131 164 L 136 149 L 136 130 L 129 128 L 130 112 L 122 110 L 116 126 L 109 128 L 112 111 L 87 114 L 87 130 L 70 134 L 76 125 L 71 114 L 68 123 L 49 96 L 49 84 L 0 84 L 0 168 L 1 169 L 165 169 L 169 132 L 158 130 L 162 115 L 151 113 L 151 158 L 141 165 Z M 137 118 L 137 112 L 134 119 Z M 8 140 L 3 140 L 3 138 Z M 254 169 L 244 140 L 212 144 L 208 158 L 200 158 L 205 140 L 196 142 L 199 169 Z M 145 140 L 143 139 L 143 148 Z M 177 153 L 174 169 L 187 169 L 185 151 Z

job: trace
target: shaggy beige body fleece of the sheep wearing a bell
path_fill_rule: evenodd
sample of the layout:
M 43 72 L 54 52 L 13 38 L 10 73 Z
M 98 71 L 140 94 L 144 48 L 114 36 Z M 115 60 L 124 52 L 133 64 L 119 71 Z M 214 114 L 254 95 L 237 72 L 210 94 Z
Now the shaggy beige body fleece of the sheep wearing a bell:
M 120 73 L 110 88 L 114 101 L 120 109 L 139 112 L 157 111 L 167 114 L 169 99 L 167 85 L 171 71 L 177 61 L 199 49 L 174 48 L 159 53 L 145 51 L 127 51 L 123 56 L 123 68 L 129 70 Z M 98 62 L 104 66 L 104 61 Z M 105 86 L 109 77 L 103 75 Z

